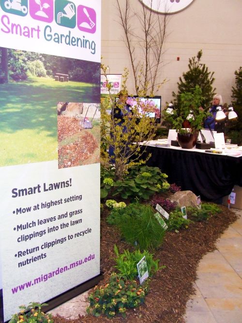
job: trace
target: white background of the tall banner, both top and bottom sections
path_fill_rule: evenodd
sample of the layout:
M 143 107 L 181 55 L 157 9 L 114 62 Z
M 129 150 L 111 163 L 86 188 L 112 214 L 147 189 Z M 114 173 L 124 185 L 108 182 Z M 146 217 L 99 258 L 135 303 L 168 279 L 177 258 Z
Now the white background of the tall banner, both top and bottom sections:
M 29 0 L 28 3 L 30 1 L 34 0 Z M 57 2 L 58 0 L 53 3 Z M 88 4 L 85 0 L 66 1 L 71 2 L 76 4 L 76 13 L 80 5 L 88 6 L 91 8 L 90 12 L 95 12 L 95 32 L 80 31 L 77 26 L 59 26 L 55 18 L 50 23 L 37 21 L 29 12 L 26 16 L 19 16 L 7 13 L 0 7 L 0 47 L 100 62 L 101 1 L 89 0 Z M 45 39 L 47 36 L 44 31 L 47 25 L 48 31 L 51 28 L 51 41 Z M 26 36 L 28 31 L 32 31 L 31 36 Z M 69 33 L 71 37 L 88 40 L 92 48 L 77 47 L 73 45 L 74 42 L 67 45 L 64 39 Z M 63 42 L 54 42 L 54 37 L 58 39 L 61 34 Z M 78 93 L 76 96 L 78 101 Z M 28 101 L 28 97 L 26 100 Z M 0 289 L 3 289 L 4 321 L 7 321 L 18 311 L 19 305 L 28 305 L 33 301 L 45 302 L 100 274 L 100 164 L 63 169 L 58 169 L 58 161 L 6 166 L 0 167 L 0 178 Z M 44 191 L 44 183 L 47 188 L 51 183 L 70 181 L 70 178 L 71 185 L 68 187 Z M 12 196 L 14 188 L 16 192 L 26 188 L 30 193 L 29 188 L 33 187 L 37 187 L 35 194 Z M 65 198 L 76 195 L 82 195 L 82 199 L 41 208 L 41 203 L 61 199 L 64 201 Z M 33 210 L 34 206 L 37 210 Z M 31 207 L 31 210 L 17 212 L 17 209 L 26 210 L 27 207 Z M 82 213 L 70 217 L 70 212 L 75 210 L 82 210 Z M 59 214 L 67 214 L 67 217 L 58 220 Z M 55 220 L 38 225 L 38 220 L 50 218 Z M 71 226 L 71 221 L 75 220 L 80 221 Z M 25 226 L 29 227 L 24 229 Z M 58 226 L 58 230 L 48 233 L 48 227 L 53 226 Z M 43 230 L 45 234 L 42 237 L 37 236 L 24 241 L 26 236 L 36 235 L 40 231 L 43 233 Z M 84 236 L 80 235 L 82 231 L 86 232 Z M 75 237 L 78 233 L 79 236 Z M 69 240 L 68 235 L 71 234 L 74 237 Z M 63 243 L 41 249 L 45 242 L 61 238 L 65 238 Z M 31 248 L 35 249 L 34 253 L 30 254 Z M 40 259 L 33 261 L 38 256 Z M 23 265 L 27 259 L 31 259 L 30 263 Z M 78 260 L 82 264 L 78 263 L 78 266 L 71 268 L 70 264 Z M 19 263 L 22 263 L 22 266 Z M 60 270 L 65 266 L 67 271 L 53 277 L 49 274 L 57 273 L 58 268 Z M 46 274 L 49 274 L 48 279 Z M 38 277 L 40 281 L 37 284 L 34 279 Z

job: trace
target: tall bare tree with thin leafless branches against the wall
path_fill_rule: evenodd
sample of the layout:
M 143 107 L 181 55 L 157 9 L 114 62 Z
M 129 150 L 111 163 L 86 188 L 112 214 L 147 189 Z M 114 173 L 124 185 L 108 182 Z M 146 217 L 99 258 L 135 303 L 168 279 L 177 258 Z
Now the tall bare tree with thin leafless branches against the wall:
M 163 44 L 166 39 L 168 15 L 155 10 L 155 1 L 147 8 L 143 1 L 141 10 L 130 0 L 116 0 L 124 43 L 128 49 L 136 95 L 154 95 L 166 81 L 161 80 Z M 131 6 L 133 4 L 133 7 Z M 134 23 L 134 20 L 136 23 Z

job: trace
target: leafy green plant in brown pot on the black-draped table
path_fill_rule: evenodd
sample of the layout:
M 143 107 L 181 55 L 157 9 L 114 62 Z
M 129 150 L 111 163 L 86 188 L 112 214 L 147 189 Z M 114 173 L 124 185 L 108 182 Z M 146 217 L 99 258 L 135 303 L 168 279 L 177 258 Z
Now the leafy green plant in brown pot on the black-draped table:
M 181 148 L 193 148 L 196 145 L 198 132 L 203 128 L 205 118 L 210 115 L 201 107 L 202 100 L 202 90 L 196 85 L 191 92 L 181 94 L 180 106 L 166 117 L 177 131 Z

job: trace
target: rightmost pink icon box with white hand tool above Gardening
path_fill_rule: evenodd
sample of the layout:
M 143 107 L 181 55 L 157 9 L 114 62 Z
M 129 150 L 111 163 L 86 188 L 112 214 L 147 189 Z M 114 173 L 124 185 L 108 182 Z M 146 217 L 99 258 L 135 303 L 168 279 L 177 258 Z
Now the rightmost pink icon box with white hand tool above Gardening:
M 96 12 L 90 7 L 77 7 L 77 27 L 82 32 L 96 32 Z

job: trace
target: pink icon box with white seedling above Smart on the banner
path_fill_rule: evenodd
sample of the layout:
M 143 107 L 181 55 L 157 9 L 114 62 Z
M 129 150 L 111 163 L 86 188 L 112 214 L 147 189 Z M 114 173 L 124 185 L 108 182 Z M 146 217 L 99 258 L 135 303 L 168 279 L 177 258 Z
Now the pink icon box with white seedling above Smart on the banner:
M 53 0 L 29 0 L 30 16 L 35 20 L 52 22 L 54 17 Z

